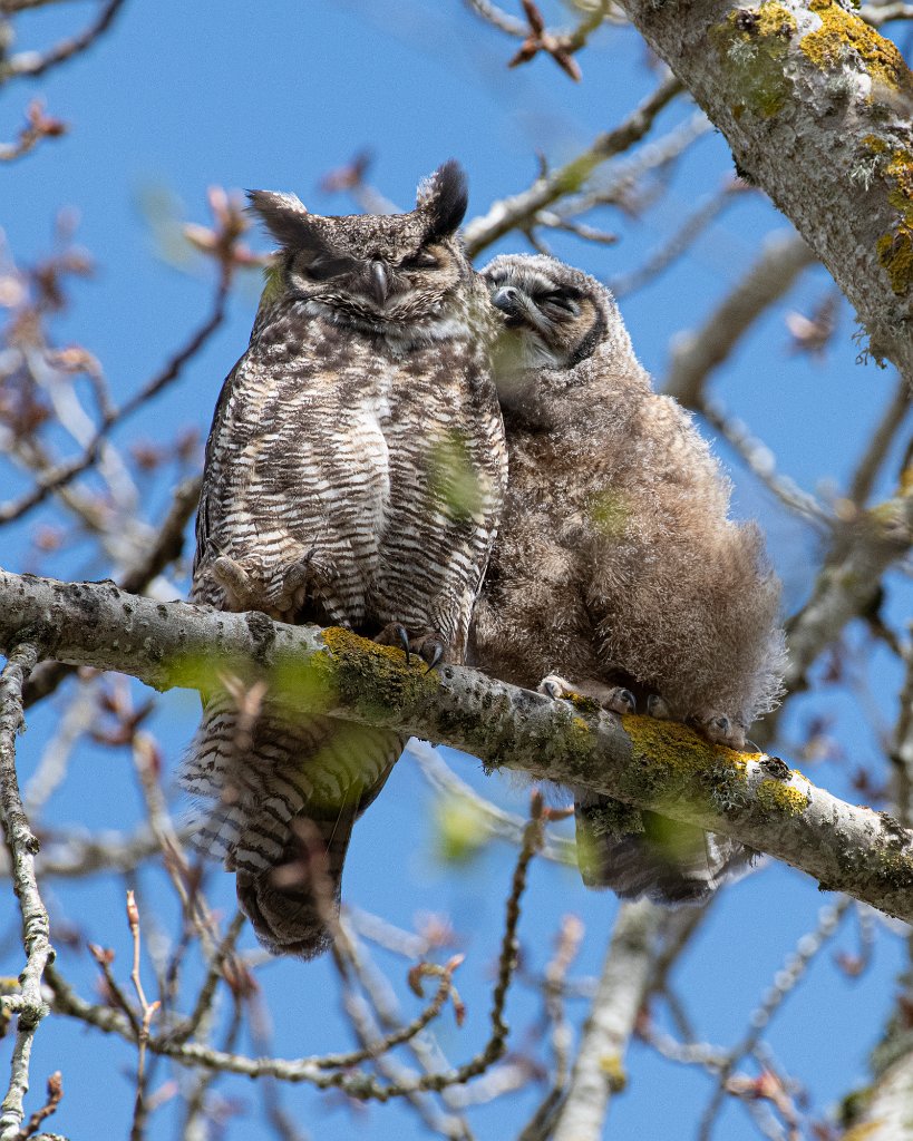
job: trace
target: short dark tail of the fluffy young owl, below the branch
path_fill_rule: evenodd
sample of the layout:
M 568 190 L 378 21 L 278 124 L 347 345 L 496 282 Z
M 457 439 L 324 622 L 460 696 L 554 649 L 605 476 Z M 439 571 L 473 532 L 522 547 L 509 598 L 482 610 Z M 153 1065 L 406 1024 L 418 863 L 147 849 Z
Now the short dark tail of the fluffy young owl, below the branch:
M 577 788 L 574 798 L 577 861 L 588 888 L 611 888 L 622 899 L 697 904 L 752 852 L 728 836 L 632 809 Z

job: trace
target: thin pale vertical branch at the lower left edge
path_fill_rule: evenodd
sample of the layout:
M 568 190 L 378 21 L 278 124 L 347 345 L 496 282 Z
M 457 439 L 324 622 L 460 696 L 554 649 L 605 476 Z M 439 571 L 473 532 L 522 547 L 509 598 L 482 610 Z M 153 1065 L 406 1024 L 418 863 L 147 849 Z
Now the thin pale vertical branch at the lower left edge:
M 11 650 L 9 647 L 7 649 L 9 658 L 0 678 L 0 808 L 3 834 L 13 861 L 13 885 L 22 912 L 26 962 L 19 974 L 18 993 L 0 996 L 0 1008 L 18 1015 L 9 1086 L 0 1104 L 0 1141 L 11 1141 L 18 1135 L 25 1116 L 32 1042 L 38 1023 L 48 1012 L 41 997 L 41 979 L 46 964 L 54 957 L 48 913 L 41 901 L 35 877 L 38 841 L 25 818 L 16 776 L 16 736 L 25 723 L 22 691 L 25 679 L 38 659 L 38 650 L 26 641 L 17 641 Z

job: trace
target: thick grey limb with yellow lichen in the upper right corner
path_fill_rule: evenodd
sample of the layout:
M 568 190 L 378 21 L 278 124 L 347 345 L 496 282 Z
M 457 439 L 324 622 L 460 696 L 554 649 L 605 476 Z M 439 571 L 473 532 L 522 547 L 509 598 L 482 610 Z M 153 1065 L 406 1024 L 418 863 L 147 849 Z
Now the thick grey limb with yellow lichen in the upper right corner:
M 913 75 L 835 0 L 623 0 L 913 381 Z

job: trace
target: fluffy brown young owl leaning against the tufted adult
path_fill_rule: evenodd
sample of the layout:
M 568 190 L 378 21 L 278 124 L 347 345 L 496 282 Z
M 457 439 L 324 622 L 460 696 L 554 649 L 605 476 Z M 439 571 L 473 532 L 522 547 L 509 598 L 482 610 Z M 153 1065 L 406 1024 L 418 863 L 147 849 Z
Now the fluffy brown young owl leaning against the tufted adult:
M 784 658 L 758 528 L 729 520 L 728 480 L 689 415 L 651 390 L 603 285 L 547 257 L 500 257 L 483 275 L 503 314 L 510 485 L 474 663 L 616 712 L 640 699 L 742 747 Z M 726 837 L 585 790 L 575 801 L 583 879 L 623 897 L 698 899 L 744 859 Z

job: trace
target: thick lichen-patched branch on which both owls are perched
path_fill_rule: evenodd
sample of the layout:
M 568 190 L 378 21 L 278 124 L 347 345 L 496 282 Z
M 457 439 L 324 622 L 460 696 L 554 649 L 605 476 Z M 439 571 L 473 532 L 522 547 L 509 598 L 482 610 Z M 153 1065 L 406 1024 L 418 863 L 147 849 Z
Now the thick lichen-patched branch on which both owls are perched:
M 584 785 L 737 836 L 826 890 L 913 920 L 913 834 L 815 787 L 777 758 L 713 747 L 684 726 L 620 720 L 592 702 L 552 702 L 457 666 L 427 674 L 406 667 L 398 650 L 341 630 L 164 605 L 113 583 L 0 572 L 0 648 L 23 630 L 60 661 L 118 670 L 160 689 L 211 693 L 226 670 L 266 677 L 270 701 L 290 713 L 396 727 L 491 767 Z

